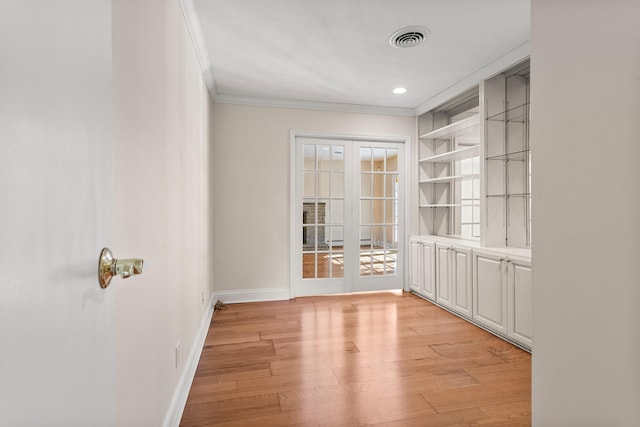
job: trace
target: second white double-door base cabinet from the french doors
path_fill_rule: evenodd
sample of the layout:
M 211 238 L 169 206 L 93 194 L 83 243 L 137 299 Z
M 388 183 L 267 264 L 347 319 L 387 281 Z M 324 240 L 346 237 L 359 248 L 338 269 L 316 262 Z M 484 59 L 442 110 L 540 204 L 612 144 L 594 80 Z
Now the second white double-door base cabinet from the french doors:
M 436 302 L 471 317 L 471 249 L 436 243 Z

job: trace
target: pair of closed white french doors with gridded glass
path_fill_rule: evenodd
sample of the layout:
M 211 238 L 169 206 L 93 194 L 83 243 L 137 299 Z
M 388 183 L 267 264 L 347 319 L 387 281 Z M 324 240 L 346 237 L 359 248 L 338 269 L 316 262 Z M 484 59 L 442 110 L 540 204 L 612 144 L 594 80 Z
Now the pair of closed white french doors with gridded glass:
M 292 295 L 402 288 L 404 144 L 298 136 L 294 145 Z

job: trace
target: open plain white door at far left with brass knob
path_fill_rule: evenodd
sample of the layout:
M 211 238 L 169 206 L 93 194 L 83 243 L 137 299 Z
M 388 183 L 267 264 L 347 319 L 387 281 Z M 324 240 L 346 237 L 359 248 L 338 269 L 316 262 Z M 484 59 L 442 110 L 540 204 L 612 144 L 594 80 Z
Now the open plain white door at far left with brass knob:
M 111 2 L 0 4 L 0 425 L 114 424 Z

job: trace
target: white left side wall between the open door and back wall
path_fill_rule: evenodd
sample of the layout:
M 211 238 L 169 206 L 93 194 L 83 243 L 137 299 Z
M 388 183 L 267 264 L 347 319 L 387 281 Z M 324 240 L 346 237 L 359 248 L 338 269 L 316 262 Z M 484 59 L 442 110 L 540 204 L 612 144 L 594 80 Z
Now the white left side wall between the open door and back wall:
M 177 0 L 114 0 L 113 26 L 112 249 L 145 260 L 112 285 L 116 421 L 160 426 L 210 306 L 210 103 Z

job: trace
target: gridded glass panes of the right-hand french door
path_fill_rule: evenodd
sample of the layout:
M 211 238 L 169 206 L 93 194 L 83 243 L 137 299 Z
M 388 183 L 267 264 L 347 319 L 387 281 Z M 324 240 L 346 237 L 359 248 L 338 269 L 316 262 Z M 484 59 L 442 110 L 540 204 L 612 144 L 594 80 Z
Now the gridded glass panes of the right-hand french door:
M 395 276 L 398 150 L 360 147 L 360 276 Z

